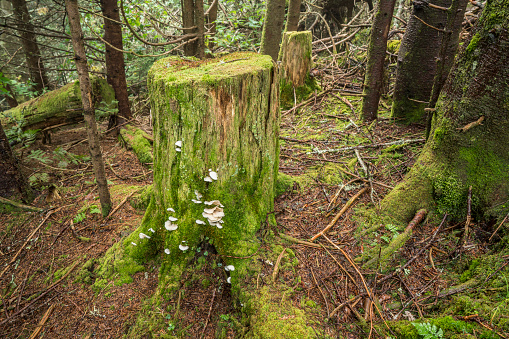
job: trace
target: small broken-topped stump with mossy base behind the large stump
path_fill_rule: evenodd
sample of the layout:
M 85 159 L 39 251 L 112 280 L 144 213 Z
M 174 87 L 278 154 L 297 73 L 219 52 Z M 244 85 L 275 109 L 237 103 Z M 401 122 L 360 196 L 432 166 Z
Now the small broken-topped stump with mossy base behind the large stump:
M 306 99 L 318 85 L 310 76 L 311 70 L 310 31 L 286 32 L 283 36 L 280 57 L 282 68 L 281 105 L 291 107 L 295 101 Z

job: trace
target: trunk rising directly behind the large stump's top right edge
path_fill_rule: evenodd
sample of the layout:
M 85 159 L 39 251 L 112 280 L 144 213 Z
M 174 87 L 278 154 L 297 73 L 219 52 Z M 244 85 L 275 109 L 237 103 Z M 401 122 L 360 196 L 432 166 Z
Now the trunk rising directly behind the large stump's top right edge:
M 260 53 L 270 55 L 274 61 L 277 60 L 279 54 L 284 19 L 285 0 L 267 0 Z

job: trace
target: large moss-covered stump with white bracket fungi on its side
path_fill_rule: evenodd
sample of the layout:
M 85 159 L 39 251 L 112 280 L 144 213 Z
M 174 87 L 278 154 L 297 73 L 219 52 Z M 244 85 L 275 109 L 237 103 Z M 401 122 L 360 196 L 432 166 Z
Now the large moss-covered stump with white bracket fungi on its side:
M 301 311 L 291 321 L 269 316 L 281 298 L 272 302 L 268 286 L 256 288 L 263 251 L 256 232 L 273 220 L 279 165 L 279 76 L 272 59 L 256 53 L 203 62 L 167 58 L 148 78 L 154 195 L 140 227 L 110 250 L 103 267 L 114 260 L 129 281 L 136 262 L 161 258 L 153 300 L 176 300 L 182 273 L 203 255 L 198 248 L 213 246 L 231 268 L 224 284 L 231 283 L 252 317 L 252 337 L 311 338 L 304 317 L 295 316 Z M 287 304 L 283 312 L 293 312 Z M 266 326 L 270 332 L 264 333 Z

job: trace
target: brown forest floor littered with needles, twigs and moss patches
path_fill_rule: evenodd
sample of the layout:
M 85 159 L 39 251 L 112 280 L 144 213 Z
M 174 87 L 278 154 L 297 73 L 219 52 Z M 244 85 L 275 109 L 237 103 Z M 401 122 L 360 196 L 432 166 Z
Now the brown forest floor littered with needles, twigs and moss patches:
M 482 291 L 482 298 L 495 294 L 491 311 L 481 309 L 482 303 L 479 310 L 465 306 L 453 311 L 442 305 L 453 294 L 464 291 L 448 288 L 473 277 L 477 267 L 474 264 L 480 262 L 476 258 L 489 252 L 492 243 L 488 239 L 496 225 L 474 220 L 464 241 L 464 221 L 439 226 L 443 216 L 434 215 L 415 228 L 412 237 L 385 266 L 359 272 L 359 262 L 350 261 L 363 255 L 378 255 L 380 245 L 387 245 L 403 232 L 401 225 L 365 224 L 359 215 L 368 213 L 367 207 L 377 209 L 381 199 L 403 179 L 424 145 L 424 127 L 395 124 L 388 118 L 385 102 L 381 104 L 378 123 L 355 123 L 361 97 L 352 92 L 355 91 L 329 93 L 299 110 L 282 113 L 280 172 L 292 176 L 294 184 L 277 198 L 277 226 L 270 232 L 298 259 L 295 271 L 282 270 L 278 277 L 281 283 L 293 287 L 294 292 L 287 298 L 316 320 L 313 328 L 318 338 L 386 337 L 384 321 L 377 307 L 366 298 L 364 284 L 377 297 L 386 321 L 395 317 L 414 321 L 440 316 L 442 322 L 433 323 L 440 326 L 422 331 L 435 331 L 435 337 L 440 338 L 439 328 L 446 331 L 456 326 L 463 335 L 458 338 L 489 338 L 487 333 L 493 338 L 498 337 L 495 333 L 509 337 L 504 334 L 507 285 Z M 140 120 L 139 125 L 149 130 L 146 119 Z M 129 200 L 152 182 L 150 166 L 142 165 L 117 139 L 104 137 L 103 152 L 109 164 L 107 177 L 115 213 L 102 218 L 91 163 L 84 158 L 88 155 L 87 144 L 70 144 L 85 137 L 83 124 L 67 126 L 55 131 L 49 145 L 37 140 L 28 148 L 16 149 L 25 173 L 34 178 L 32 183 L 40 190 L 33 206 L 44 212 L 0 214 L 1 338 L 121 338 L 143 310 L 143 301 L 157 287 L 158 262 L 147 264 L 144 272 L 133 276 L 132 283 L 121 286 L 111 282 L 93 290 L 81 277 L 82 267 L 89 259 L 100 258 L 137 228 L 144 211 L 131 206 Z M 42 153 L 28 157 L 32 150 Z M 364 187 L 370 189 L 360 195 L 326 236 L 308 242 Z M 284 240 L 278 236 L 281 234 L 294 240 Z M 497 236 L 492 241 L 496 240 Z M 425 251 L 420 251 L 423 248 Z M 411 264 L 393 271 L 411 259 Z M 502 256 L 502 264 L 484 277 L 484 283 L 488 278 L 505 278 L 507 262 L 508 257 Z M 266 261 L 266 277 L 272 276 L 275 264 Z M 177 312 L 152 310 L 167 320 L 161 337 L 240 335 L 240 305 L 233 300 L 228 285 L 217 279 L 219 271 L 224 272 L 218 267 L 203 266 L 199 273 L 209 277 L 210 284 L 197 283 L 184 274 L 183 282 L 192 282 L 183 284 L 185 298 L 179 294 L 177 300 L 168 301 L 177 305 Z M 260 284 L 264 283 L 262 278 Z M 444 322 L 445 315 L 452 318 Z M 405 324 L 390 325 L 392 335 L 419 338 L 414 327 Z M 500 329 L 497 324 L 506 327 Z M 405 335 L 404 331 L 410 334 Z

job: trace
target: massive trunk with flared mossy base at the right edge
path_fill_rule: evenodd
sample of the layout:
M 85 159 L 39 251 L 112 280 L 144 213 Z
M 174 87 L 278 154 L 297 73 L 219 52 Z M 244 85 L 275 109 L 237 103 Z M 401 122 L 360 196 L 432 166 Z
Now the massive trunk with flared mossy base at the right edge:
M 382 202 L 400 220 L 420 208 L 474 217 L 507 214 L 509 199 L 509 7 L 488 1 L 456 58 L 436 105 L 431 134 L 410 173 Z

